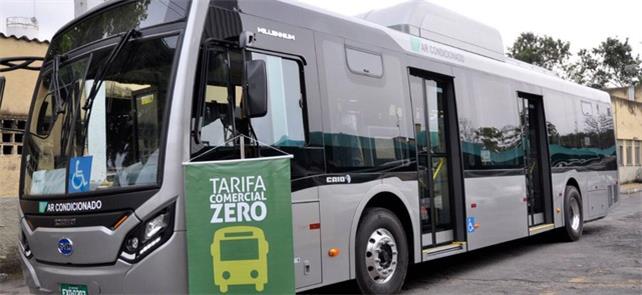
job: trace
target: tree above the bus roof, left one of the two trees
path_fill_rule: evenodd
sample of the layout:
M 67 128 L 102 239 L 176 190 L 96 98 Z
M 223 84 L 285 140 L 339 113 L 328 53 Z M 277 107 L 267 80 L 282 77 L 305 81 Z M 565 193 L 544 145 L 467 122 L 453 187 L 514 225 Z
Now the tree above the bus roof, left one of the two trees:
M 564 76 L 566 63 L 571 56 L 571 43 L 531 32 L 521 33 L 512 47 L 508 48 L 508 56 L 534 64 L 561 76 Z

